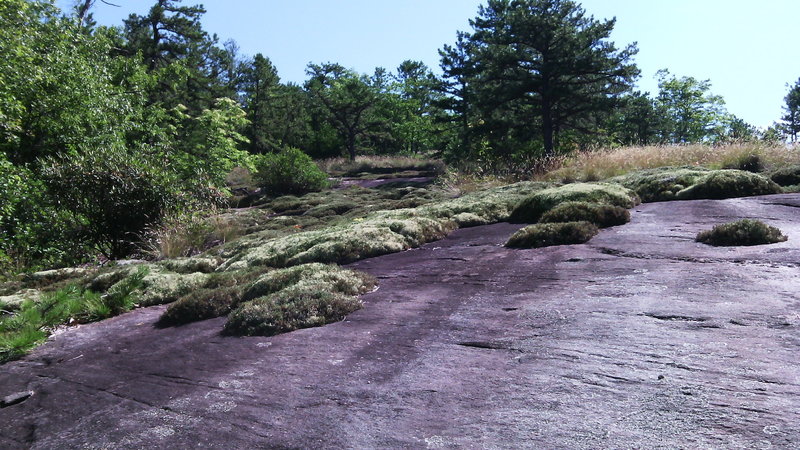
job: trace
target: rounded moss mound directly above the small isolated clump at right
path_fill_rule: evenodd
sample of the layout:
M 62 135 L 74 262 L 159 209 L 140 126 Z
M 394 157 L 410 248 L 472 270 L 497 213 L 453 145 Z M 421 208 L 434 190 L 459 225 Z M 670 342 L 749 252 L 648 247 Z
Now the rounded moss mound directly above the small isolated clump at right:
M 781 192 L 780 186 L 763 175 L 742 170 L 718 170 L 700 177 L 675 197 L 678 200 L 722 199 Z

